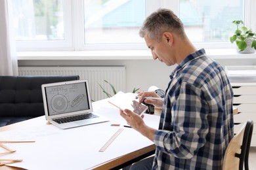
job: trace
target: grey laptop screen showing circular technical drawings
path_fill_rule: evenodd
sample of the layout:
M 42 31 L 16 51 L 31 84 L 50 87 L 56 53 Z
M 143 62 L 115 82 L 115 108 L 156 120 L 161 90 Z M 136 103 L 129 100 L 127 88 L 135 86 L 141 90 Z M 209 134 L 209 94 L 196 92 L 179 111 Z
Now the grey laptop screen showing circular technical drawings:
M 45 97 L 49 116 L 90 109 L 86 82 L 47 86 Z

